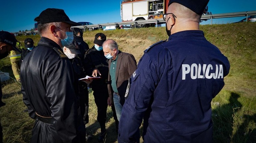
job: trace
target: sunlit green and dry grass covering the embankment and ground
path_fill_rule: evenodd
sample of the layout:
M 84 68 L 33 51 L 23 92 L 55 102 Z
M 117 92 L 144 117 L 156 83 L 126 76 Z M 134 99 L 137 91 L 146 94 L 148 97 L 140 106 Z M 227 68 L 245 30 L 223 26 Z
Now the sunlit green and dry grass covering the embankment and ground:
M 230 61 L 230 73 L 224 78 L 225 86 L 212 101 L 213 142 L 254 143 L 256 142 L 256 23 L 200 25 L 205 37 L 215 44 Z M 130 30 L 86 31 L 84 40 L 93 46 L 96 33 L 104 33 L 107 38 L 117 41 L 119 48 L 132 53 L 137 62 L 143 51 L 157 41 L 167 39 L 165 27 L 140 28 Z M 40 36 L 17 36 L 19 41 L 32 38 L 35 45 Z M 0 70 L 11 72 L 8 58 L 0 60 Z M 12 80 L 3 87 L 3 101 L 0 108 L 4 142 L 29 142 L 34 121 L 27 113 L 20 93 L 20 84 Z M 89 95 L 89 124 L 87 131 L 96 143 L 100 132 L 97 123 L 97 108 L 92 93 Z M 115 124 L 111 108 L 107 113 L 106 142 L 117 142 Z M 141 139 L 142 142 L 142 139 Z

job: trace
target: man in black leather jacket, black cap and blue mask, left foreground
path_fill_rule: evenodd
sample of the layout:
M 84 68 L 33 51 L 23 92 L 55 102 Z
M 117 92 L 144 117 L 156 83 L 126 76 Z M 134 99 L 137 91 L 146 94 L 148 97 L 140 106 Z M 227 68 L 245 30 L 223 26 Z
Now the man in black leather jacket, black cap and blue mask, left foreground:
M 21 65 L 21 92 L 35 119 L 31 143 L 85 142 L 75 94 L 72 62 L 61 47 L 73 41 L 73 22 L 64 10 L 48 8 L 35 18 L 41 36 Z

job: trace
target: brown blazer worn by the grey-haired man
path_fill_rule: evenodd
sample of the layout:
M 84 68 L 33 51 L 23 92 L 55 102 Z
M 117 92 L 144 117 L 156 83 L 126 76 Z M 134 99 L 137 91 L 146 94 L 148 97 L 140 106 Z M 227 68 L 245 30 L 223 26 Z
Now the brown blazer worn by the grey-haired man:
M 111 61 L 108 61 L 108 95 L 110 101 L 113 104 L 113 89 L 111 86 L 111 77 L 110 77 L 110 65 Z M 137 69 L 137 63 L 132 54 L 124 53 L 119 51 L 116 65 L 116 84 L 117 90 L 120 96 L 120 104 L 124 104 L 124 95 L 128 85 L 128 80 L 133 72 Z

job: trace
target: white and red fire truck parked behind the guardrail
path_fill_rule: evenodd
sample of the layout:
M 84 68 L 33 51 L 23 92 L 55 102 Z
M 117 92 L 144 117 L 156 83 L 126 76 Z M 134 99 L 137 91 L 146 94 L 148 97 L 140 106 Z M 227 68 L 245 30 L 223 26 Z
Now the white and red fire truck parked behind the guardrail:
M 161 19 L 168 9 L 169 0 L 122 0 L 120 11 L 122 21 Z M 204 11 L 207 14 L 208 6 Z

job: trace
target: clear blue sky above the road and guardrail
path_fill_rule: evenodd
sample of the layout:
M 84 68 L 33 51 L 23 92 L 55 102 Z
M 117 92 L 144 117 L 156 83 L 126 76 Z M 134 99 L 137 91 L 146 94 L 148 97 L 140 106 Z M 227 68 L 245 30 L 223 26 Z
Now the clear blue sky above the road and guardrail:
M 72 21 L 93 24 L 120 22 L 120 0 L 2 0 L 0 30 L 18 32 L 34 27 L 34 19 L 47 8 L 63 9 Z M 212 14 L 256 10 L 255 0 L 210 0 Z M 213 19 L 213 24 L 231 23 L 244 17 Z M 210 24 L 210 20 L 201 24 Z

